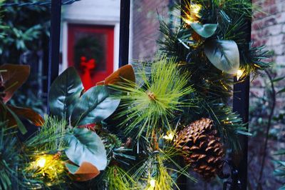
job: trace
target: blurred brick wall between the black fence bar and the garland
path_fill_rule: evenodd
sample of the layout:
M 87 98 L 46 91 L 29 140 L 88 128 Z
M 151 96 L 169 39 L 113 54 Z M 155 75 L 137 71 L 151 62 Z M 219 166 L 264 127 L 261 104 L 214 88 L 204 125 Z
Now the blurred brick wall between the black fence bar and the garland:
M 169 0 L 133 0 L 133 59 L 153 59 L 160 37 L 160 16 L 167 18 Z

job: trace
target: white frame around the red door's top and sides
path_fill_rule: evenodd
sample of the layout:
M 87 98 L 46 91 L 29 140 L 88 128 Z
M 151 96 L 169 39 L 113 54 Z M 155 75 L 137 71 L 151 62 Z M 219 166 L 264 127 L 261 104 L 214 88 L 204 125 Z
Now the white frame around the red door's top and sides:
M 68 68 L 68 24 L 86 24 L 114 27 L 114 55 L 113 55 L 113 71 L 118 69 L 119 59 L 119 39 L 120 39 L 120 22 L 119 21 L 86 21 L 86 20 L 64 20 L 62 25 L 62 66 L 59 69 L 60 73 Z

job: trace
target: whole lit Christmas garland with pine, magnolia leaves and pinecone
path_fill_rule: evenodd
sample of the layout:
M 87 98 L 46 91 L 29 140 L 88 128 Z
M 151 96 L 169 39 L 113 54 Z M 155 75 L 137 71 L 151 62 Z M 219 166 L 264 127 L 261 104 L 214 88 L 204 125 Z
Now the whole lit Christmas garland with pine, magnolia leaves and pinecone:
M 238 134 L 248 135 L 227 105 L 233 78 L 269 66 L 243 32 L 251 9 L 246 0 L 186 4 L 177 26 L 160 20 L 162 56 L 150 72 L 143 67 L 135 76 L 123 66 L 85 91 L 68 68 L 53 81 L 44 119 L 9 106 L 28 70 L 1 66 L 0 187 L 175 189 L 178 176 L 197 181 L 188 168 L 206 181 L 222 175 L 226 147 L 239 150 Z M 22 143 L 19 116 L 41 125 Z

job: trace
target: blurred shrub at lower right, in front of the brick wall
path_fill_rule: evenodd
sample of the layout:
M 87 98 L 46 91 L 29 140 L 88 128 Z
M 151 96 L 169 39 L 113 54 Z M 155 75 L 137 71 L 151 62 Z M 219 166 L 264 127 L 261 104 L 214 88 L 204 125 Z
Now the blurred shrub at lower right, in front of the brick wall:
M 284 76 L 279 66 L 259 73 L 259 91 L 250 91 L 249 189 L 279 189 L 285 184 Z M 280 167 L 281 166 L 281 167 Z

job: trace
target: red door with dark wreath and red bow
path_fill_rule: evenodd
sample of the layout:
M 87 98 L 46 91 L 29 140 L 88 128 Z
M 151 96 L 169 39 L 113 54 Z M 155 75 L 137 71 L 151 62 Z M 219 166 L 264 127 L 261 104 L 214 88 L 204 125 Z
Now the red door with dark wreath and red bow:
M 68 66 L 75 66 L 85 89 L 113 73 L 114 27 L 68 24 Z

